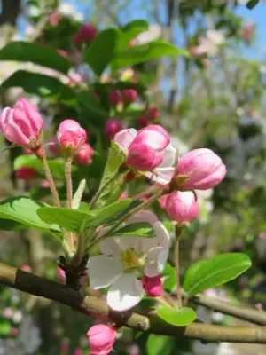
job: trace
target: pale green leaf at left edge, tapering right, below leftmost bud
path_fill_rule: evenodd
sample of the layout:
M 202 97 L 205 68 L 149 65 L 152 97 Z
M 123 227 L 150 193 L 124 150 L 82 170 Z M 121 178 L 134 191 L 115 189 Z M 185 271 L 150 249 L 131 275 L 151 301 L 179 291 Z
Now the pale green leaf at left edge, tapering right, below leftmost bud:
M 0 202 L 0 218 L 19 222 L 45 232 L 60 231 L 58 225 L 48 225 L 38 216 L 37 210 L 43 206 L 45 206 L 44 203 L 31 200 L 29 197 L 12 197 Z M 1 225 L 2 223 L 0 228 Z

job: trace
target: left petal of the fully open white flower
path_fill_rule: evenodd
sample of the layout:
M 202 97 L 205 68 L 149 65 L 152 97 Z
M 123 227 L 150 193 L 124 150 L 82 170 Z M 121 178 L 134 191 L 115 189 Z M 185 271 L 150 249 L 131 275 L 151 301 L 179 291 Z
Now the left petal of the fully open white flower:
M 108 256 L 91 256 L 87 264 L 90 288 L 110 286 L 123 272 L 119 259 Z

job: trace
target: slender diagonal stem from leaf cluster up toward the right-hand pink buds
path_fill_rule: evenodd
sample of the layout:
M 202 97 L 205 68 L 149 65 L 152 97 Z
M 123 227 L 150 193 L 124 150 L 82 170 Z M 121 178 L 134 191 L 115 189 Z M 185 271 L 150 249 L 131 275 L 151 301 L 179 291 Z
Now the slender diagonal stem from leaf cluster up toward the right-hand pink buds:
M 129 217 L 132 217 L 141 209 L 146 209 L 147 207 L 151 206 L 154 201 L 158 200 L 159 197 L 164 193 L 164 187 L 161 188 L 157 193 L 154 193 L 152 197 L 149 198 L 149 200 L 141 203 L 139 206 L 137 206 L 135 209 L 131 209 L 129 213 L 127 213 L 125 216 L 121 217 L 111 228 L 106 231 L 100 238 L 95 238 L 93 241 L 90 243 L 89 248 L 93 248 L 96 244 L 98 244 L 99 241 L 104 241 L 109 235 L 111 235 L 123 222 L 125 222 Z

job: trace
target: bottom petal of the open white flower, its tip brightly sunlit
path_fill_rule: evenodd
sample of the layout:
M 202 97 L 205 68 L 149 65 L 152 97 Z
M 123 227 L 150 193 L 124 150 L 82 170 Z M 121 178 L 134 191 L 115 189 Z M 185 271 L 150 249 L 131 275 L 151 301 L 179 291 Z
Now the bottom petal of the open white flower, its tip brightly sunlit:
M 138 304 L 144 296 L 141 281 L 134 273 L 123 273 L 113 282 L 107 292 L 107 304 L 114 311 L 127 311 Z

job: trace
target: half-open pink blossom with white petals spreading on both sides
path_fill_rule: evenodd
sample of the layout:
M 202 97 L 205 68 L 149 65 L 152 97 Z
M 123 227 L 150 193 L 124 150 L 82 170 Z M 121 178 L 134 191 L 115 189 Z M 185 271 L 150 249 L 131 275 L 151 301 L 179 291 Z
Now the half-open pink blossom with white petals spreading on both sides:
M 145 171 L 152 181 L 167 185 L 174 175 L 176 149 L 168 132 L 160 125 L 151 124 L 142 130 L 121 130 L 114 138 L 127 154 L 130 168 Z

